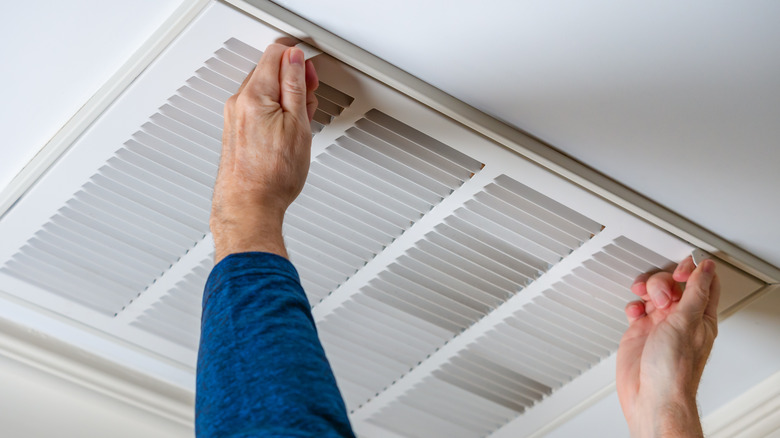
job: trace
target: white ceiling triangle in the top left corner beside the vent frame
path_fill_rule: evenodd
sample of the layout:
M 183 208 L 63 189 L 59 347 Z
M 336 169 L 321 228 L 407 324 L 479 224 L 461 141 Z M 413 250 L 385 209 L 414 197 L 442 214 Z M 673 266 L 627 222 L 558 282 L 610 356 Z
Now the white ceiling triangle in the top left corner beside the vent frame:
M 11 2 L 0 18 L 0 187 L 182 0 Z

